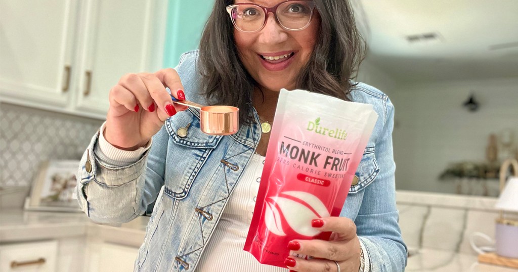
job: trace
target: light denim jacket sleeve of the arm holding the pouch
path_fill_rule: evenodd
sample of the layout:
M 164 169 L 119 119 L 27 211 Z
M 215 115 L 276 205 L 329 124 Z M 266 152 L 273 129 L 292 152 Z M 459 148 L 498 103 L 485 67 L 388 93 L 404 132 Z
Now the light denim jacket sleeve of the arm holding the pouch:
M 407 264 L 407 247 L 401 238 L 396 188 L 392 131 L 394 106 L 385 96 L 383 130 L 376 142 L 375 156 L 380 172 L 365 188 L 364 201 L 355 220 L 357 235 L 366 247 L 371 271 L 400 272 Z

